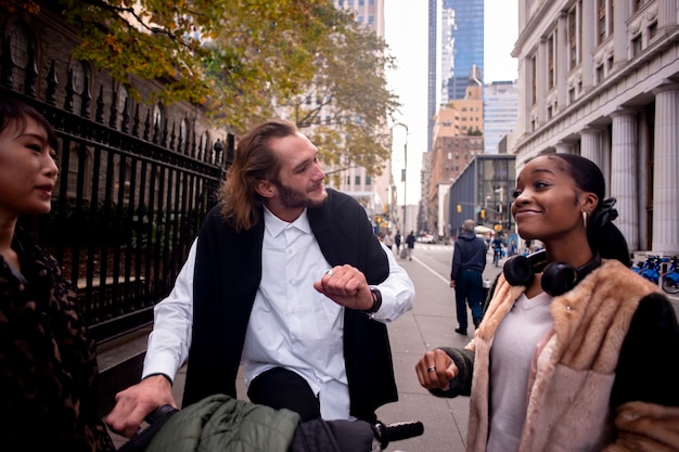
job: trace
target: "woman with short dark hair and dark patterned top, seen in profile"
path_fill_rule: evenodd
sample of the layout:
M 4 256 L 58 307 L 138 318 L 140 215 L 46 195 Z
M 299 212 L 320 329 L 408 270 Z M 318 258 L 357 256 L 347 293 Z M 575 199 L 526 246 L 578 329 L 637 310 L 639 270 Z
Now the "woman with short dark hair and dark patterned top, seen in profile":
M 3 451 L 113 452 L 75 288 L 17 225 L 51 210 L 56 147 L 40 113 L 0 99 L 0 440 Z

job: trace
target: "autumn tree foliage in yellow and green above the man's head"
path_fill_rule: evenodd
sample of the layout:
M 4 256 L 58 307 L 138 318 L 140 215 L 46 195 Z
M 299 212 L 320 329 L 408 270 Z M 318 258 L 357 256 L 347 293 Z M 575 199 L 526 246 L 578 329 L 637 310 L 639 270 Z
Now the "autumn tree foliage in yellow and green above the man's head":
M 30 4 L 33 12 L 36 3 L 54 4 L 0 2 Z M 331 0 L 57 4 L 79 35 L 74 57 L 108 72 L 132 95 L 134 77 L 162 80 L 164 90 L 153 95 L 200 104 L 236 133 L 285 106 L 331 165 L 379 173 L 388 157 L 385 124 L 398 102 L 384 74 L 394 60 L 383 40 Z M 309 96 L 321 103 L 307 104 Z

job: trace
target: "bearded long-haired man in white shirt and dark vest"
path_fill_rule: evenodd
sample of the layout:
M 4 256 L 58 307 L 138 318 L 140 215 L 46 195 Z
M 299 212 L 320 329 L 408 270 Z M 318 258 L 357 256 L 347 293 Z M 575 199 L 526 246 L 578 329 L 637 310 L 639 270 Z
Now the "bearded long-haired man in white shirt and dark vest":
M 155 308 L 142 380 L 106 418 L 115 431 L 131 436 L 152 410 L 177 405 L 170 383 L 187 359 L 184 406 L 235 398 L 240 364 L 252 402 L 303 421 L 372 422 L 397 400 L 386 323 L 412 307 L 413 284 L 364 208 L 324 178 L 292 122 L 240 140 L 220 203 Z

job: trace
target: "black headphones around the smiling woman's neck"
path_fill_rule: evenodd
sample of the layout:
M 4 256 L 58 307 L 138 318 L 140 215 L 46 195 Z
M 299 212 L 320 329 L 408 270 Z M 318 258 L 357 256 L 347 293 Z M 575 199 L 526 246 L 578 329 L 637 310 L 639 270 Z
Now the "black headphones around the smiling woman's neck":
M 526 286 L 533 284 L 536 272 L 542 272 L 542 290 L 552 297 L 565 294 L 575 287 L 592 270 L 601 264 L 601 258 L 597 254 L 592 260 L 576 269 L 564 262 L 547 263 L 547 251 L 541 249 L 529 256 L 514 256 L 504 262 L 502 273 L 508 283 L 513 286 Z

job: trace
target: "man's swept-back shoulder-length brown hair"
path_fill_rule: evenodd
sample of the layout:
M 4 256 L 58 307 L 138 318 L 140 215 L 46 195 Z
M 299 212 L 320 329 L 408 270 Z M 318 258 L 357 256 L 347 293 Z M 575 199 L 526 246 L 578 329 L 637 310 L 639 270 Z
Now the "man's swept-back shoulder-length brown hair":
M 236 231 L 248 230 L 259 220 L 257 207 L 264 199 L 255 190 L 257 182 L 278 180 L 281 164 L 269 141 L 294 135 L 297 131 L 294 122 L 271 119 L 255 127 L 239 141 L 233 164 L 219 190 L 221 214 Z

